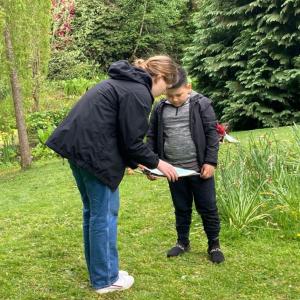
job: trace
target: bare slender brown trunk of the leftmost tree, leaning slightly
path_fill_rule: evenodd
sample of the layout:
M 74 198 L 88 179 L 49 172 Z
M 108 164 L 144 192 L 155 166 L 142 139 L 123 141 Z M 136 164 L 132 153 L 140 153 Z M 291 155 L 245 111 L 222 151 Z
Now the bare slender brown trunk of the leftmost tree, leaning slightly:
M 26 124 L 25 124 L 25 119 L 23 114 L 23 102 L 22 102 L 20 83 L 19 83 L 17 69 L 15 66 L 15 58 L 14 58 L 14 51 L 11 42 L 10 31 L 7 25 L 5 25 L 4 28 L 4 39 L 5 39 L 7 60 L 9 63 L 10 84 L 12 89 L 18 136 L 19 136 L 21 167 L 24 169 L 29 167 L 31 164 L 31 153 L 30 153 L 30 147 L 29 147 L 28 136 L 26 131 Z

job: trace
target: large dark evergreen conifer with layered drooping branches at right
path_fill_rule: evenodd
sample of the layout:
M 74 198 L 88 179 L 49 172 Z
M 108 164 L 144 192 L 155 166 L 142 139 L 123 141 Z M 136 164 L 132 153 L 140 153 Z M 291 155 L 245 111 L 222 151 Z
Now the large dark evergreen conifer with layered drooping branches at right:
M 185 63 L 235 128 L 300 120 L 300 1 L 204 0 Z

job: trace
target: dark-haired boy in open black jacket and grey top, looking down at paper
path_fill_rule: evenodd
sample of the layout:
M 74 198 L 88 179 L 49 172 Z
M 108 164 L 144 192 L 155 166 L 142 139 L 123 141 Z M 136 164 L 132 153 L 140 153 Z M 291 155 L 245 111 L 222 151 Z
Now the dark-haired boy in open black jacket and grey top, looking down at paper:
M 213 263 L 224 261 L 220 249 L 220 220 L 216 206 L 214 171 L 219 137 L 211 101 L 192 91 L 183 68 L 178 81 L 167 89 L 167 99 L 154 108 L 147 134 L 150 148 L 173 166 L 195 170 L 200 176 L 169 182 L 175 208 L 177 243 L 167 252 L 174 257 L 190 250 L 189 231 L 193 199 L 208 238 L 208 255 Z M 155 179 L 148 176 L 149 179 Z

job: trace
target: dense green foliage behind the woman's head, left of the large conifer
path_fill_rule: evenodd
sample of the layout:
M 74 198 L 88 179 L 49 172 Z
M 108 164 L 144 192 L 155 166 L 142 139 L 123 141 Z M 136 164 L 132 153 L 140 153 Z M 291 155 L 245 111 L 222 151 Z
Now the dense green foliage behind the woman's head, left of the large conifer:
M 73 65 L 82 63 L 84 70 L 85 66 L 94 66 L 106 71 L 116 60 L 161 53 L 181 59 L 184 47 L 191 41 L 187 34 L 194 8 L 191 2 L 194 1 L 77 0 L 72 41 L 67 49 L 53 53 L 50 78 L 57 78 L 62 65 L 73 68 L 70 56 L 63 53 L 66 50 L 72 53 Z

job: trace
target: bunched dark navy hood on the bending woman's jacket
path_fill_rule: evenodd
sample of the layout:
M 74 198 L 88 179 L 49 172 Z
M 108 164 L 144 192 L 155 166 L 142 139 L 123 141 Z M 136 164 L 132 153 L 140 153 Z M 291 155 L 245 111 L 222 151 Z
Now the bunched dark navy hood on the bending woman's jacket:
M 134 67 L 126 60 L 120 60 L 113 63 L 108 69 L 108 75 L 112 79 L 135 81 L 146 85 L 151 91 L 152 78 L 143 69 Z

